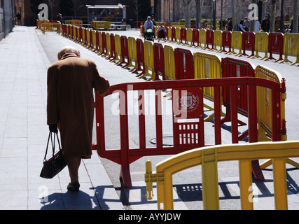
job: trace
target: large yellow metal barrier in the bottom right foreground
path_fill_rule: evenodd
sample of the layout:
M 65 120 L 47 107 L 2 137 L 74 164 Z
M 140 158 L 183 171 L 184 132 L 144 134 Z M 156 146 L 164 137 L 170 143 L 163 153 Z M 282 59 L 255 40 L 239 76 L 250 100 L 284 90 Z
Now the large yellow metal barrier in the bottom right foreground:
M 208 146 L 174 155 L 156 165 L 146 162 L 146 197 L 151 200 L 153 182 L 157 182 L 158 209 L 174 209 L 172 175 L 202 165 L 202 200 L 204 209 L 219 209 L 217 163 L 239 160 L 241 209 L 253 209 L 251 160 L 272 159 L 275 209 L 288 209 L 286 158 L 299 157 L 299 141 Z

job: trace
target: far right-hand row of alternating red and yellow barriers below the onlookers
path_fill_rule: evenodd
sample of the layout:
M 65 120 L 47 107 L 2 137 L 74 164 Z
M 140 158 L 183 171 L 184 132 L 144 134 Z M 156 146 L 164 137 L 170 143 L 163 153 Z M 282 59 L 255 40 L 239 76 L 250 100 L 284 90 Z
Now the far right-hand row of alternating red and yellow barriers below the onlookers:
M 141 26 L 140 30 L 141 36 L 143 36 L 144 27 Z M 157 38 L 158 34 L 155 33 L 155 35 Z M 215 52 L 225 52 L 228 55 L 257 57 L 265 60 L 273 59 L 274 62 L 279 63 L 290 62 L 291 65 L 299 63 L 299 34 L 268 34 L 265 32 L 214 31 L 211 29 L 168 27 L 165 36 L 167 41 L 171 43 L 189 45 Z M 228 50 L 225 50 L 225 48 L 228 48 Z M 250 51 L 251 55 L 247 55 L 246 51 Z M 260 57 L 260 52 L 263 52 L 265 56 Z M 279 55 L 279 58 L 275 59 L 274 54 Z M 296 57 L 295 62 L 291 62 L 289 57 Z

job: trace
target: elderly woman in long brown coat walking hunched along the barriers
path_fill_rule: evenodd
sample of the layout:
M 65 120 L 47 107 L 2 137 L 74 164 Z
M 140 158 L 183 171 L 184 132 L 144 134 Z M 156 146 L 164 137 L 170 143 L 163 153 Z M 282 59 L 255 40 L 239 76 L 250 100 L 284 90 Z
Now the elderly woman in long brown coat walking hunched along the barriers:
M 100 96 L 109 90 L 95 62 L 80 57 L 76 48 L 64 47 L 58 62 L 48 68 L 47 123 L 51 132 L 60 130 L 62 153 L 69 168 L 68 190 L 79 190 L 78 168 L 81 159 L 92 155 L 94 115 L 93 89 Z

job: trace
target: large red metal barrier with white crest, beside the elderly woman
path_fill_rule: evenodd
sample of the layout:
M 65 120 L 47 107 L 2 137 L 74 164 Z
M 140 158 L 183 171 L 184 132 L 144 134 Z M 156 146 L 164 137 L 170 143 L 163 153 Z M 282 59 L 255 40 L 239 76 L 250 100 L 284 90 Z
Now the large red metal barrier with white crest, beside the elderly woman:
M 277 116 L 281 116 L 280 109 L 276 107 L 280 100 L 279 83 L 263 78 L 240 77 L 240 78 L 211 78 L 197 80 L 166 80 L 152 82 L 125 83 L 111 86 L 109 92 L 104 98 L 96 94 L 95 115 L 96 115 L 96 132 L 97 144 L 92 146 L 93 150 L 102 158 L 106 158 L 120 165 L 120 179 L 123 179 L 125 188 L 132 187 L 130 176 L 130 164 L 139 158 L 150 155 L 175 155 L 183 151 L 202 146 L 222 144 L 221 139 L 221 88 L 228 89 L 230 94 L 230 107 L 232 110 L 232 120 L 237 120 L 237 100 L 236 95 L 239 87 L 248 90 L 246 102 L 248 103 L 248 123 L 249 123 L 249 142 L 255 142 L 258 139 L 257 131 L 257 110 L 256 110 L 256 87 L 267 87 L 272 92 L 272 106 Z M 204 97 L 202 88 L 214 87 L 214 144 L 206 144 L 204 139 Z M 169 99 L 162 97 L 161 90 L 172 90 L 172 106 L 167 107 L 169 113 L 162 113 L 162 105 L 169 102 Z M 151 90 L 151 91 L 148 91 Z M 136 93 L 135 108 L 137 111 L 132 115 L 129 114 L 132 108 L 131 98 L 128 95 Z M 118 94 L 118 97 L 112 97 L 111 94 Z M 148 94 L 153 94 L 153 97 Z M 149 97 L 152 100 L 146 100 Z M 106 104 L 115 104 L 111 99 L 116 101 L 119 106 L 118 111 L 111 114 L 111 106 Z M 117 98 L 117 99 L 116 99 Z M 119 99 L 119 100 L 118 100 Z M 112 100 L 113 101 L 113 100 Z M 104 105 L 105 102 L 105 105 Z M 134 105 L 133 105 L 134 106 Z M 153 106 L 154 114 L 146 113 L 148 107 Z M 105 110 L 106 108 L 106 110 Z M 163 107 L 165 109 L 165 107 Z M 196 113 L 193 113 L 196 111 Z M 113 112 L 113 111 L 112 111 Z M 117 113 L 116 113 L 117 112 Z M 129 123 L 130 116 L 130 123 Z M 155 119 L 153 119 L 155 116 Z M 169 122 L 165 123 L 168 116 Z M 273 117 L 277 117 L 273 116 Z M 178 119 L 186 118 L 185 122 L 179 123 Z M 190 120 L 189 118 L 193 118 Z M 196 119 L 194 119 L 196 118 Z M 116 128 L 105 130 L 105 120 L 117 125 Z M 163 123 L 162 123 L 163 120 Z M 166 120 L 168 121 L 168 120 Z M 280 123 L 274 119 L 275 125 L 280 127 Z M 118 125 L 119 124 L 119 125 Z M 132 125 L 134 124 L 134 125 Z M 138 125 L 138 128 L 136 127 Z M 162 125 L 167 127 L 162 128 Z M 107 127 L 107 126 L 106 126 Z M 149 130 L 149 127 L 152 129 Z M 277 128 L 276 127 L 276 128 Z M 278 130 L 278 129 L 277 129 Z M 272 127 L 272 133 L 277 132 Z M 172 143 L 164 144 L 163 136 L 174 133 Z M 119 133 L 118 133 L 119 132 Z M 165 133 L 167 132 L 167 133 Z M 134 138 L 137 144 L 130 144 L 130 138 Z M 107 135 L 109 134 L 109 137 Z M 238 126 L 232 122 L 232 139 L 237 139 Z M 146 137 L 155 136 L 156 144 L 149 146 L 146 144 Z M 235 143 L 232 141 L 232 143 Z M 225 142 L 227 144 L 227 142 Z M 107 148 L 106 148 L 107 146 Z M 109 146 L 111 146 L 109 148 Z M 254 167 L 255 168 L 255 167 Z

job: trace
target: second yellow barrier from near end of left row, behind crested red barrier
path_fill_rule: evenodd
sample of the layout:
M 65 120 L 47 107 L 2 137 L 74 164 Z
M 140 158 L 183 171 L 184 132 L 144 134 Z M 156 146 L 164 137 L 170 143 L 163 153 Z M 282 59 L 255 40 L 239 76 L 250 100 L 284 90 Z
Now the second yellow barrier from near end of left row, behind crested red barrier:
M 221 57 L 204 52 L 196 52 L 193 55 L 194 61 L 194 78 L 222 78 L 221 69 Z M 204 87 L 204 98 L 211 102 L 214 102 L 214 87 Z M 223 99 L 221 97 L 221 105 L 223 105 Z M 204 107 L 214 111 L 211 106 L 204 104 Z M 221 110 L 221 116 L 225 116 L 225 113 Z M 204 121 L 209 121 L 214 118 L 214 113 Z

